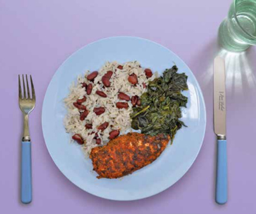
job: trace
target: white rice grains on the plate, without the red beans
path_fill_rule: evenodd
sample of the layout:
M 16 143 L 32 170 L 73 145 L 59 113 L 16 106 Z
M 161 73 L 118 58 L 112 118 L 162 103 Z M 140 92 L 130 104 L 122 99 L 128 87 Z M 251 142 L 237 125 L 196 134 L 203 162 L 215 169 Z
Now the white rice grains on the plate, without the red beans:
M 117 68 L 119 65 L 123 66 L 123 70 Z M 110 87 L 103 88 L 101 79 L 103 75 L 109 70 L 113 72 L 113 75 L 110 79 L 111 84 Z M 143 88 L 143 83 L 148 85 L 148 81 L 152 81 L 155 79 L 155 77 L 157 77 L 157 72 L 155 72 L 153 73 L 152 77 L 147 79 L 144 73 L 144 68 L 141 68 L 138 61 L 124 64 L 108 62 L 104 64 L 104 66 L 98 72 L 99 74 L 94 79 L 94 83 L 86 79 L 87 75 L 90 73 L 89 71 L 86 71 L 83 76 L 79 76 L 77 78 L 77 83 L 72 83 L 70 86 L 70 93 L 68 97 L 64 99 L 64 104 L 68 111 L 66 117 L 64 117 L 64 126 L 66 128 L 66 132 L 70 133 L 71 137 L 75 133 L 83 137 L 85 143 L 82 147 L 86 155 L 90 154 L 92 148 L 98 146 L 94 139 L 95 133 L 98 133 L 99 139 L 101 139 L 101 144 L 106 144 L 109 141 L 108 137 L 110 131 L 119 130 L 120 135 L 127 131 L 132 131 L 132 119 L 130 119 L 130 113 L 132 113 L 132 103 L 128 101 L 128 109 L 118 109 L 115 106 L 117 102 L 126 102 L 118 99 L 118 93 L 123 92 L 130 97 L 133 95 L 141 97 L 141 95 L 146 92 L 146 88 Z M 135 73 L 138 78 L 138 83 L 136 86 L 132 86 L 132 84 L 128 82 L 128 76 L 132 73 Z M 86 94 L 86 91 L 84 88 L 82 88 L 81 83 L 92 83 L 93 89 L 90 95 Z M 106 93 L 108 97 L 100 97 L 95 93 L 97 90 L 101 90 L 102 92 Z M 83 96 L 86 97 L 86 101 L 83 102 L 83 105 L 86 106 L 90 113 L 87 115 L 84 121 L 81 121 L 79 119 L 79 110 L 75 108 L 73 103 L 76 102 L 77 99 L 82 99 Z M 96 115 L 93 112 L 95 107 L 104 107 L 105 112 L 101 115 Z M 104 122 L 109 122 L 108 128 L 106 128 L 104 131 L 97 130 L 97 127 Z M 84 127 L 85 124 L 92 124 L 92 129 L 87 130 Z M 92 132 L 94 132 L 94 134 L 90 134 Z

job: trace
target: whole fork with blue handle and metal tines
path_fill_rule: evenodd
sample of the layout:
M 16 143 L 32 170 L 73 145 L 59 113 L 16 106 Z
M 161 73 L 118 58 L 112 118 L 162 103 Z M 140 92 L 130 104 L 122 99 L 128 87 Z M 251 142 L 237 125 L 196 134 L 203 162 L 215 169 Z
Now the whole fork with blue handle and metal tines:
M 19 108 L 23 112 L 23 138 L 21 141 L 21 202 L 29 204 L 32 201 L 32 169 L 31 169 L 31 141 L 28 129 L 28 115 L 35 108 L 35 90 L 30 75 L 30 84 L 32 96 L 30 96 L 30 88 L 28 86 L 28 75 L 26 75 L 26 86 L 23 80 L 23 92 L 21 90 L 21 78 L 19 75 Z

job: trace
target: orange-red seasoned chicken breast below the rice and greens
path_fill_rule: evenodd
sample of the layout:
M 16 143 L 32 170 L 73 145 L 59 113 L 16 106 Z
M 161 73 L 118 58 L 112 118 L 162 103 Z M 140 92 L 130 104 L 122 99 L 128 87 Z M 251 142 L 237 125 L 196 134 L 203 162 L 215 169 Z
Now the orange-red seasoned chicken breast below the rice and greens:
M 141 133 L 128 133 L 96 147 L 90 153 L 98 179 L 117 179 L 151 164 L 170 141 L 170 136 L 151 137 Z

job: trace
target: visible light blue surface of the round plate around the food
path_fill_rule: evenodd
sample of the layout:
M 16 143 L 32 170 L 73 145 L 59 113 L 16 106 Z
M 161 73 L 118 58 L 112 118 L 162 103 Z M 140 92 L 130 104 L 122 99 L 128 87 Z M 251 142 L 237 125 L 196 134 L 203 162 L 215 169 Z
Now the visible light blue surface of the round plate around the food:
M 139 61 L 141 66 L 161 74 L 173 66 L 188 75 L 188 107 L 182 109 L 182 121 L 188 128 L 177 131 L 172 146 L 152 164 L 122 179 L 97 179 L 92 162 L 85 159 L 80 146 L 70 144 L 63 118 L 63 99 L 77 75 L 98 70 L 106 61 Z M 136 200 L 150 197 L 172 186 L 195 161 L 204 139 L 206 110 L 202 92 L 190 68 L 175 53 L 160 44 L 137 37 L 111 37 L 88 44 L 72 54 L 59 67 L 50 82 L 43 103 L 43 134 L 48 151 L 62 173 L 88 193 L 112 200 Z

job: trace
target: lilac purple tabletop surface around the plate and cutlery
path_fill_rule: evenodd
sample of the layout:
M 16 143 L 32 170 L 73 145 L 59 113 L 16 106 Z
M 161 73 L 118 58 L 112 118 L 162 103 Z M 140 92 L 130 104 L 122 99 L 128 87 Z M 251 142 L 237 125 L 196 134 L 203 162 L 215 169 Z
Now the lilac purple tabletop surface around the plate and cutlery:
M 0 213 L 256 213 L 256 50 L 241 54 L 219 50 L 217 30 L 230 3 L 1 0 Z M 85 44 L 115 35 L 150 39 L 177 53 L 201 85 L 208 119 L 204 143 L 188 173 L 168 190 L 131 202 L 101 199 L 74 186 L 52 161 L 41 127 L 44 94 L 61 63 Z M 218 53 L 227 67 L 228 203 L 224 206 L 214 200 L 212 62 Z M 28 205 L 19 201 L 23 120 L 17 102 L 18 73 L 33 75 L 37 95 L 30 117 L 34 199 Z

